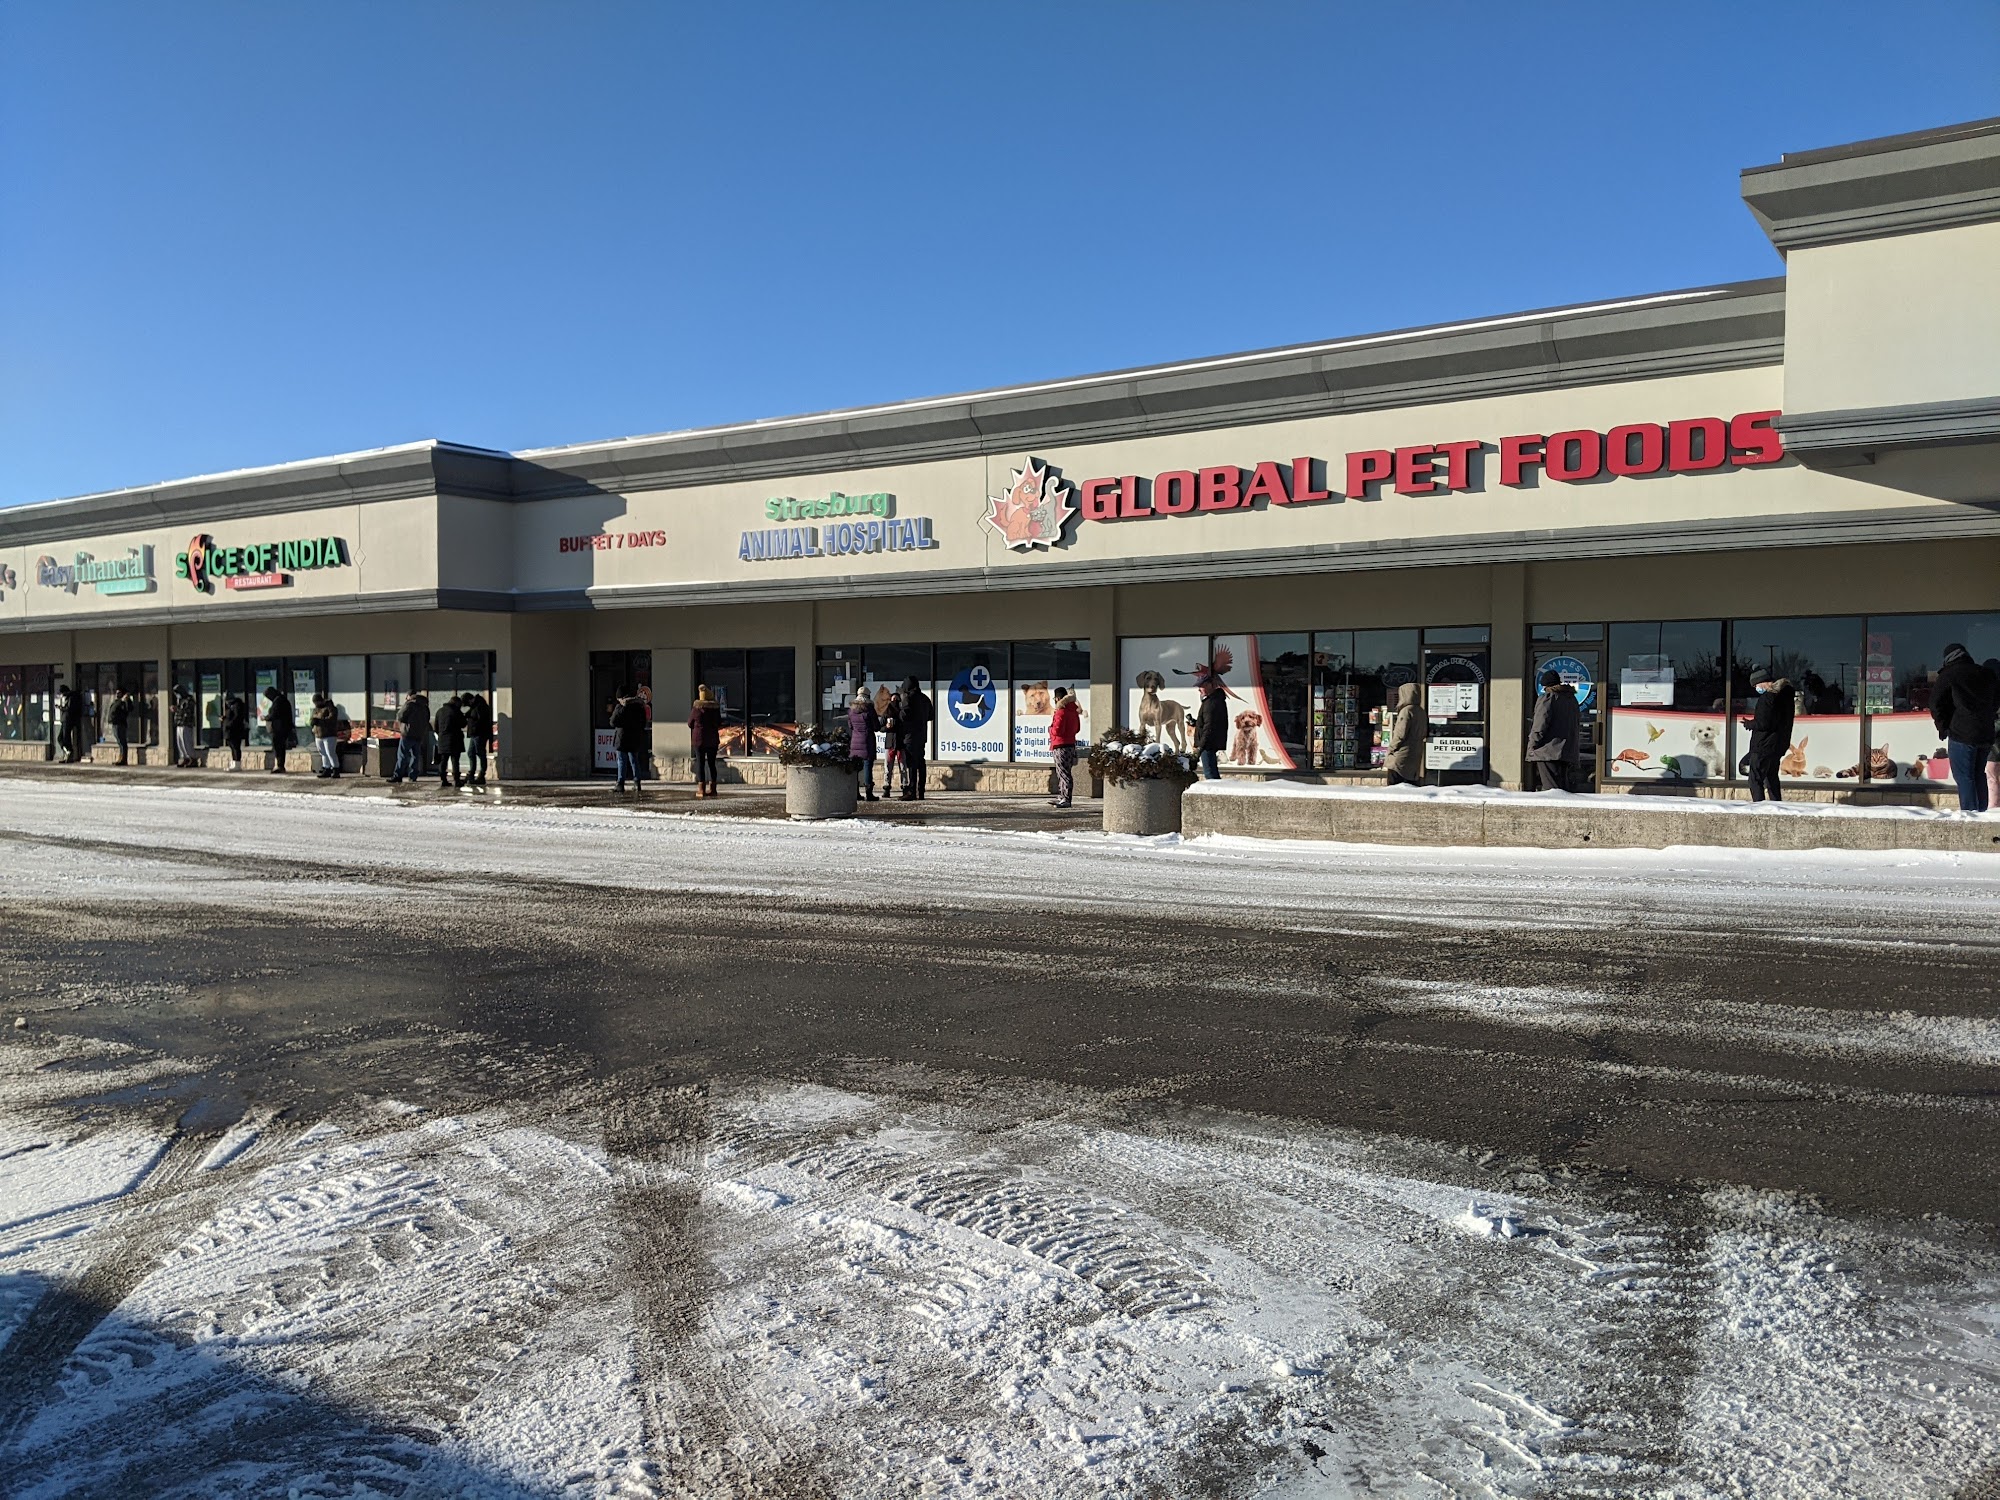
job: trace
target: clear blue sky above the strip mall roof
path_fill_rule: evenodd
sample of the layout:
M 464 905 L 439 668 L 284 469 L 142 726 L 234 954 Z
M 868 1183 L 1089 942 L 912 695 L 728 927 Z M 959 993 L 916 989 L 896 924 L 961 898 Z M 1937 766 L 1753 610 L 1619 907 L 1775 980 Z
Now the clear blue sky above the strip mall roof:
M 0 504 L 1770 276 L 1992 114 L 1992 0 L 0 0 Z

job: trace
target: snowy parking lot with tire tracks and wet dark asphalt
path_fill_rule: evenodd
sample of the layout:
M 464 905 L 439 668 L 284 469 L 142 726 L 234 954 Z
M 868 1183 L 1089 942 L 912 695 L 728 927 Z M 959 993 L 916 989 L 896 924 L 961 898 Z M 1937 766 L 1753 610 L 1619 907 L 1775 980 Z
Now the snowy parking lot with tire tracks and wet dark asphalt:
M 2000 860 L 54 778 L 0 842 L 6 1494 L 2000 1476 Z

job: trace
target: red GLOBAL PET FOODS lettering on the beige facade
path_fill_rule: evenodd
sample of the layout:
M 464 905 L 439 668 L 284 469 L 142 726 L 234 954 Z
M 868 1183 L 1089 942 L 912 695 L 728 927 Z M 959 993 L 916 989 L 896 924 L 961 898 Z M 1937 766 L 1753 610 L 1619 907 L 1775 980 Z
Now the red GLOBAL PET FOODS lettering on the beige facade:
M 1338 466 L 1318 458 L 1252 468 L 1174 468 L 1150 480 L 1112 474 L 1078 484 L 1084 520 L 1144 520 L 1202 516 L 1220 510 L 1306 506 L 1340 500 L 1384 500 L 1390 494 L 1456 494 L 1486 488 L 1490 456 L 1508 488 L 1586 484 L 1598 478 L 1702 474 L 1758 468 L 1784 458 L 1772 426 L 1778 412 L 1738 412 L 1732 418 L 1690 416 L 1678 422 L 1630 422 L 1610 432 L 1520 432 L 1500 442 L 1460 438 L 1410 448 L 1358 448 Z

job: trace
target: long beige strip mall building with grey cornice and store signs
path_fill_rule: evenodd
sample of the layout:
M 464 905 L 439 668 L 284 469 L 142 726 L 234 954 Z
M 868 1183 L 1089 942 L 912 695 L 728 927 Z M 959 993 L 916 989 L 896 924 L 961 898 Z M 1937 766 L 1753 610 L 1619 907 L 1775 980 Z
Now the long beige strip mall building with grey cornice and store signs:
M 2000 126 L 1744 174 L 1786 274 L 976 396 L 500 454 L 416 444 L 0 512 L 0 754 L 62 684 L 490 692 L 502 776 L 590 774 L 608 704 L 724 704 L 748 774 L 906 676 L 958 784 L 1028 786 L 1050 698 L 1238 772 L 1518 784 L 1536 682 L 1606 788 L 1948 780 L 1930 682 L 2000 658 Z

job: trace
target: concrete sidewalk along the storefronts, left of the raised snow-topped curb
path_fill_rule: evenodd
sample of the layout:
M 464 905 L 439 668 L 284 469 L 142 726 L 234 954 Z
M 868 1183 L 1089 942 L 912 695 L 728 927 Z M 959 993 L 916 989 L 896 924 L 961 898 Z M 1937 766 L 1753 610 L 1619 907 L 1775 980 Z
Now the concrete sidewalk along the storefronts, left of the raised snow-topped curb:
M 694 782 L 646 782 L 646 790 L 618 794 L 610 780 L 548 780 L 492 782 L 484 790 L 440 788 L 436 780 L 392 786 L 380 776 L 340 776 L 328 780 L 304 768 L 304 756 L 294 770 L 176 770 L 174 766 L 116 766 L 104 762 L 60 760 L 0 762 L 0 786 L 10 780 L 58 782 L 74 780 L 88 786 L 204 786 L 218 790 L 280 792 L 288 796 L 376 798 L 386 802 L 456 802 L 480 800 L 510 808 L 642 808 L 646 812 L 724 816 L 724 818 L 784 818 L 784 786 L 742 786 L 724 782 L 720 796 L 694 796 Z M 1100 826 L 1102 802 L 1078 798 L 1074 808 L 1048 806 L 1046 796 L 1006 792 L 930 792 L 922 802 L 884 798 L 862 802 L 860 818 L 908 826 L 952 824 L 954 828 L 1016 828 L 1028 832 L 1074 832 Z

